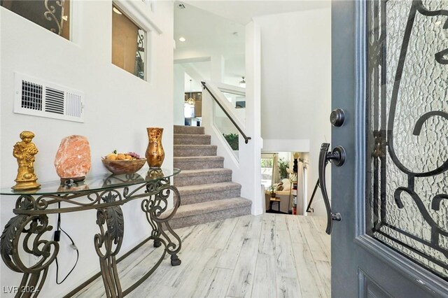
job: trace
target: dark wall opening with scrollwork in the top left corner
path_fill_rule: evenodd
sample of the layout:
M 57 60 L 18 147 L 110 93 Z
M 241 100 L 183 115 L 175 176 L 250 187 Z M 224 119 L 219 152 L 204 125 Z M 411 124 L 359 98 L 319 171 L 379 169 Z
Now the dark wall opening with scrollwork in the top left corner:
M 70 39 L 69 0 L 1 0 L 0 4 L 57 35 Z

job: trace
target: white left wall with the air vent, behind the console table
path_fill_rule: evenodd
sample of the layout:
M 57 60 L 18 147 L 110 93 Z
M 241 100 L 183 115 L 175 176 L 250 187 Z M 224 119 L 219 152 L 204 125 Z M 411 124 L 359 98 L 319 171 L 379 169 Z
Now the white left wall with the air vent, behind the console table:
M 141 1 L 134 1 L 141 12 L 152 17 L 162 34 L 151 34 L 149 73 L 145 82 L 111 64 L 111 1 L 71 1 L 73 3 L 73 42 L 38 27 L 22 17 L 0 8 L 1 17 L 1 187 L 14 184 L 17 162 L 13 144 L 23 130 L 36 134 L 35 170 L 38 182 L 57 180 L 53 160 L 61 139 L 71 134 L 87 136 L 92 152 L 89 175 L 105 173 L 100 156 L 111 150 L 132 150 L 144 154 L 148 144 L 146 127 L 164 127 L 164 167 L 172 168 L 173 157 L 173 3 L 160 1 L 155 13 Z M 72 87 L 85 93 L 85 122 L 67 122 L 13 113 L 13 78 L 18 71 L 29 76 Z M 1 226 L 13 216 L 15 197 L 1 196 Z M 148 223 L 140 211 L 140 200 L 123 206 L 125 217 L 124 253 L 148 236 Z M 55 216 L 50 218 L 55 226 Z M 69 290 L 99 271 L 93 237 L 99 232 L 96 211 L 62 214 L 62 228 L 80 252 L 71 276 L 55 285 L 52 264 L 40 297 L 62 297 Z M 48 232 L 48 239 L 52 232 Z M 64 240 L 64 239 L 63 239 Z M 59 274 L 71 268 L 75 253 L 61 241 L 59 255 L 64 258 Z M 1 262 L 1 285 L 19 285 L 21 274 Z M 2 297 L 8 295 L 2 293 Z

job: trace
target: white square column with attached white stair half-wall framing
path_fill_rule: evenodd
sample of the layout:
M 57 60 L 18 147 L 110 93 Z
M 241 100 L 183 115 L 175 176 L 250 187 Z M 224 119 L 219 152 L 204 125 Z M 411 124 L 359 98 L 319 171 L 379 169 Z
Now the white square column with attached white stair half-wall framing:
M 229 146 L 216 129 L 213 119 L 213 99 L 209 92 L 204 92 L 202 103 L 202 125 L 205 133 L 211 135 L 211 144 L 218 146 L 217 155 L 224 157 L 224 167 L 232 169 L 232 181 L 241 184 L 241 197 L 252 201 L 251 213 L 259 215 L 265 204 L 264 194 L 261 192 L 261 137 L 260 137 L 260 29 L 251 22 L 246 25 L 246 72 L 248 73 L 246 87 L 246 121 L 241 122 L 234 117 L 242 131 L 251 137 L 248 143 L 239 134 L 239 159 L 235 158 Z M 217 85 L 207 82 L 207 87 L 214 95 L 221 99 L 221 104 L 232 114 L 234 110 L 230 102 L 219 92 Z

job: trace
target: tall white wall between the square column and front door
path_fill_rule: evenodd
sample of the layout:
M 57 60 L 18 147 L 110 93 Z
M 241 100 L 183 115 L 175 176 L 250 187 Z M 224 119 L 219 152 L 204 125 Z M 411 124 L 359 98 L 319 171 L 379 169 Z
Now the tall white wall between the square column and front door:
M 323 9 L 256 17 L 255 23 L 261 29 L 263 150 L 309 151 L 312 190 L 321 143 L 331 138 L 330 1 Z M 325 215 L 320 192 L 314 202 L 314 214 Z

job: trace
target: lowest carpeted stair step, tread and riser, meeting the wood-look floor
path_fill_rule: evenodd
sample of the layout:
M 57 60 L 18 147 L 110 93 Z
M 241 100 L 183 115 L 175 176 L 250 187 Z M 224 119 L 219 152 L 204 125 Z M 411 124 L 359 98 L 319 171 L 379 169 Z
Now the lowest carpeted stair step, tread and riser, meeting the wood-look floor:
M 173 229 L 251 214 L 252 201 L 241 197 L 180 206 L 169 220 Z

